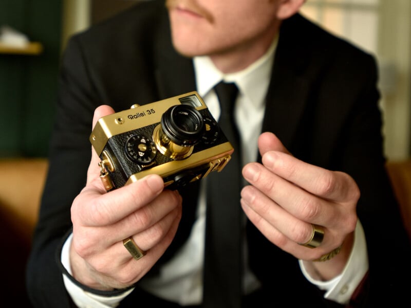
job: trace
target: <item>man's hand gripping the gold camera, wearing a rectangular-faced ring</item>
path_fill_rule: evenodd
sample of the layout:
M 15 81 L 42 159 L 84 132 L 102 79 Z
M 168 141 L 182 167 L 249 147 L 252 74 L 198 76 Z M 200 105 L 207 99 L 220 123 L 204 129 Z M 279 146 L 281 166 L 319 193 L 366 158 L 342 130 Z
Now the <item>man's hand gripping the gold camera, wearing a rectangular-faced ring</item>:
M 114 110 L 96 108 L 97 120 Z M 181 218 L 181 196 L 164 190 L 159 175 L 106 192 L 100 180 L 100 158 L 94 149 L 87 183 L 73 201 L 70 247 L 72 275 L 100 290 L 124 288 L 140 280 L 172 242 Z M 123 246 L 132 237 L 146 255 L 135 260 Z

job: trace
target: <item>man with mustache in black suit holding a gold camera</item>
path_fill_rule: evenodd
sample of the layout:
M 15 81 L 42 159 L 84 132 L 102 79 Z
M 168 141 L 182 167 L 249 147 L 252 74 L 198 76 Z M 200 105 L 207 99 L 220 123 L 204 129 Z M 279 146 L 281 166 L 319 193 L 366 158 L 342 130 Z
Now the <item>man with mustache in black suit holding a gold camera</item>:
M 298 15 L 303 3 L 151 1 L 73 37 L 28 265 L 35 306 L 207 306 L 231 292 L 208 295 L 202 281 L 207 181 L 171 191 L 150 175 L 107 193 L 88 141 L 101 116 L 195 89 L 218 118 L 221 80 L 238 88 L 248 182 L 241 295 L 222 306 L 406 298 L 410 247 L 384 170 L 375 62 Z

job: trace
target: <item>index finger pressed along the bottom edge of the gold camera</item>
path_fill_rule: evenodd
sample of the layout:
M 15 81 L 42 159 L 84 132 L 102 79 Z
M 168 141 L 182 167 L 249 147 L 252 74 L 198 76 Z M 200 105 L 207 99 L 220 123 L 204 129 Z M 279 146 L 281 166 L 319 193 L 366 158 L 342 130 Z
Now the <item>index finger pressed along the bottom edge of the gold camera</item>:
M 73 219 L 81 220 L 79 223 L 83 226 L 111 225 L 152 202 L 163 189 L 163 179 L 157 174 L 147 175 L 106 194 L 86 188 L 77 197 L 79 202 L 77 198 L 74 200 L 77 215 Z

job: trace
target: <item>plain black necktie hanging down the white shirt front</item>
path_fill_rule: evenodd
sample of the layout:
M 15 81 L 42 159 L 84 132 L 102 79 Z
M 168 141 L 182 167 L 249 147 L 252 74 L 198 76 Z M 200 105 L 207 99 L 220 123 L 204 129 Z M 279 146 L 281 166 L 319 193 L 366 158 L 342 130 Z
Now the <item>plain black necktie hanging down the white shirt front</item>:
M 234 83 L 220 82 L 214 88 L 221 107 L 221 131 L 234 153 L 221 172 L 207 177 L 206 244 L 204 247 L 203 307 L 240 307 L 241 303 L 241 156 L 234 123 Z

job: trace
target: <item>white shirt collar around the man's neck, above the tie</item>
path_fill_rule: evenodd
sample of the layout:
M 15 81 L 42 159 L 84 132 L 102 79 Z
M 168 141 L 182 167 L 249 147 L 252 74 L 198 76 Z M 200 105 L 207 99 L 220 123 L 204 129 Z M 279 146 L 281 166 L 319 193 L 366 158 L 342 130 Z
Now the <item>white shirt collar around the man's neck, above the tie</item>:
M 221 73 L 208 56 L 194 57 L 198 94 L 201 97 L 206 96 L 217 83 L 224 80 L 226 82 L 235 82 L 240 94 L 248 97 L 254 104 L 264 103 L 277 42 L 278 35 L 262 57 L 245 69 L 232 74 Z

